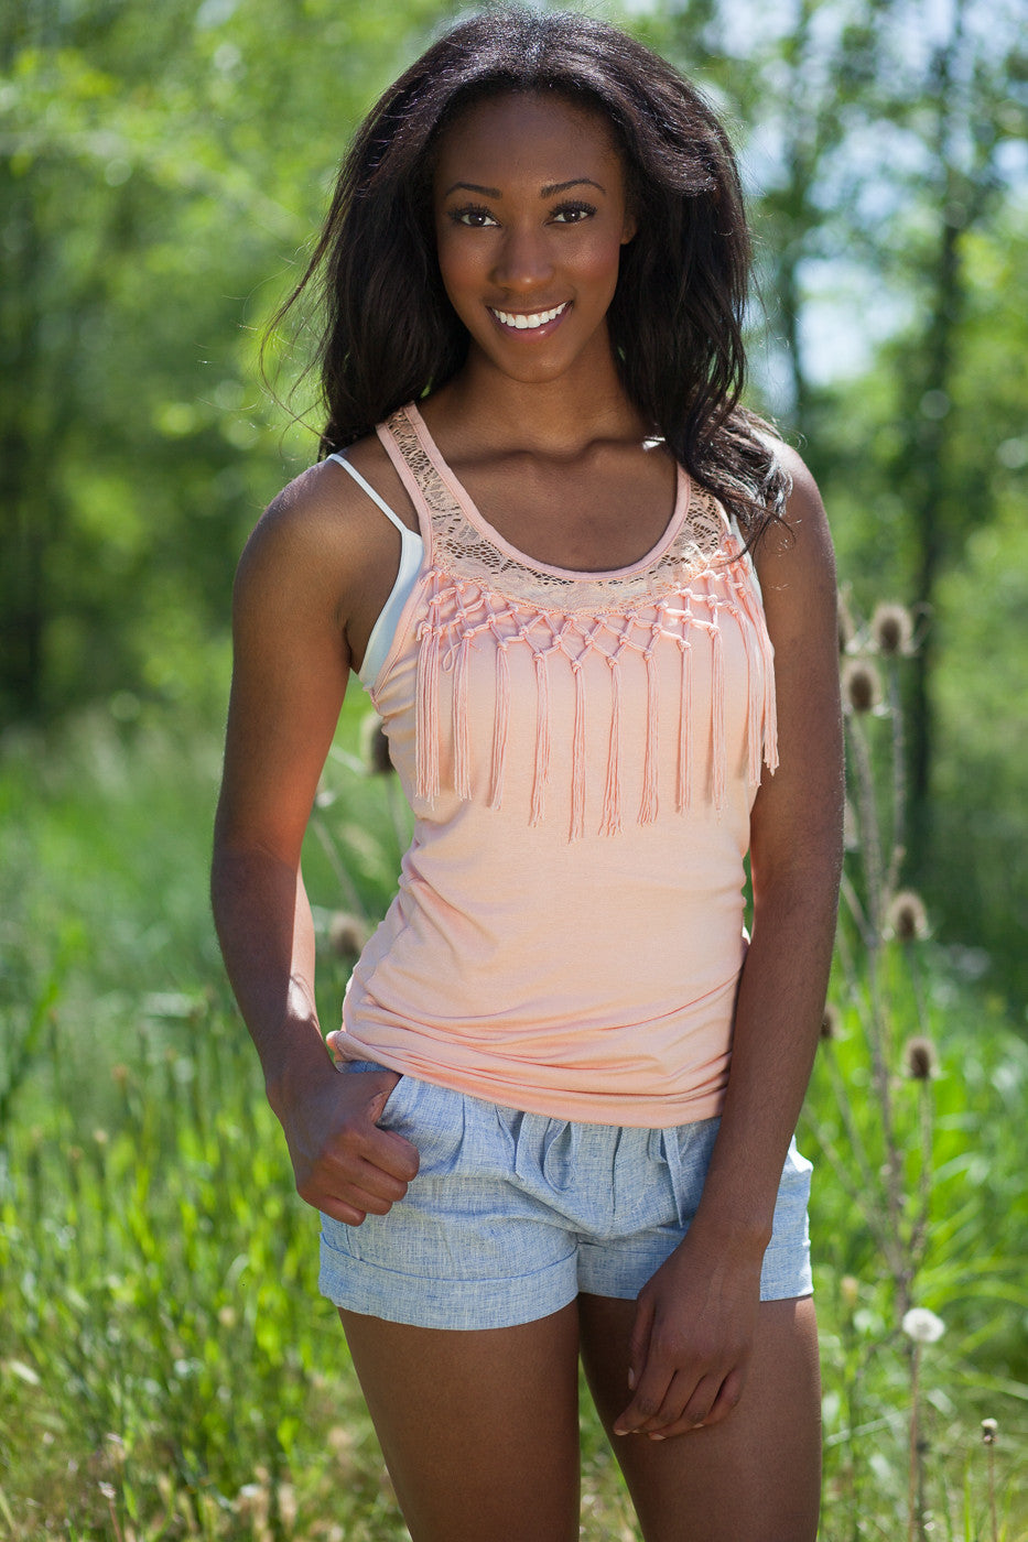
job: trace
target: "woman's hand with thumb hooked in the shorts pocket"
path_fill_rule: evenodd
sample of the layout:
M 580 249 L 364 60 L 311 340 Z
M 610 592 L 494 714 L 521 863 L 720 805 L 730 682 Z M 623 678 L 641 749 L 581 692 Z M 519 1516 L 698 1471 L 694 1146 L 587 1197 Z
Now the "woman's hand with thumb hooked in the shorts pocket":
M 326 1058 L 275 1101 L 296 1192 L 347 1226 L 387 1215 L 418 1170 L 417 1147 L 378 1129 L 398 1081 L 394 1070 L 340 1075 Z

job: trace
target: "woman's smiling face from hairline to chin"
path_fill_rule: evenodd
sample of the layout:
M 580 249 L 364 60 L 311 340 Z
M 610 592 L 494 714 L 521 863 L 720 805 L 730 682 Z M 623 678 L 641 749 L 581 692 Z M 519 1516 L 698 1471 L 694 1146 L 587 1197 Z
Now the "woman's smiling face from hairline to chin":
M 622 157 L 599 113 L 508 94 L 445 133 L 438 265 L 478 362 L 517 381 L 610 361 L 607 310 L 631 239 Z

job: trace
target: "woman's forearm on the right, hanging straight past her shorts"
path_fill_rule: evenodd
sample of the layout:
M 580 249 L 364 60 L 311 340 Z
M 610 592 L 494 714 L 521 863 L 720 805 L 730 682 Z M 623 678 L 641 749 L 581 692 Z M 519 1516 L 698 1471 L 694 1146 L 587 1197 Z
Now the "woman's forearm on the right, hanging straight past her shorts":
M 767 1244 L 775 1197 L 824 1015 L 837 879 L 793 877 L 763 896 L 735 1012 L 732 1067 L 698 1221 L 739 1247 Z

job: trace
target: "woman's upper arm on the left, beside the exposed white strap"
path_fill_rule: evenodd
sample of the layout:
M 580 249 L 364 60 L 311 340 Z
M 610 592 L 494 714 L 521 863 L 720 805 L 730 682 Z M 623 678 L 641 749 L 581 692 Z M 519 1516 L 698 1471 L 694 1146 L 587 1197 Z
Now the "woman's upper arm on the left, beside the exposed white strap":
M 320 469 L 247 541 L 233 591 L 233 672 L 216 845 L 298 865 L 350 668 L 346 520 Z

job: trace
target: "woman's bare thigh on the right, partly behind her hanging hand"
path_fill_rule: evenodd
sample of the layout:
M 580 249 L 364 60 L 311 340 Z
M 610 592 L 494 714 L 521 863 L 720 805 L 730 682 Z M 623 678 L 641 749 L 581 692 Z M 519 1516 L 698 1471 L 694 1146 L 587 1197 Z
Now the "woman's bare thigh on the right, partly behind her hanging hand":
M 742 1399 L 710 1429 L 614 1436 L 634 1301 L 580 1295 L 582 1362 L 645 1542 L 813 1542 L 821 1408 L 813 1300 L 764 1301 Z

